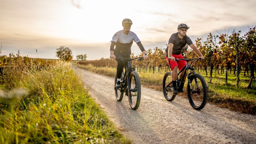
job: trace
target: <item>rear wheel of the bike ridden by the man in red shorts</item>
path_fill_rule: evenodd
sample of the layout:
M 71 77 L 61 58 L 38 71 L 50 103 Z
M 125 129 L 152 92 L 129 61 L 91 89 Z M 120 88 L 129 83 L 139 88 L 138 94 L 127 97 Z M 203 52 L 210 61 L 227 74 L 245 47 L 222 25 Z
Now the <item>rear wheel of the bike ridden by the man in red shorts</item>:
M 176 97 L 173 95 L 171 72 L 166 72 L 163 76 L 163 95 L 168 101 L 173 101 Z

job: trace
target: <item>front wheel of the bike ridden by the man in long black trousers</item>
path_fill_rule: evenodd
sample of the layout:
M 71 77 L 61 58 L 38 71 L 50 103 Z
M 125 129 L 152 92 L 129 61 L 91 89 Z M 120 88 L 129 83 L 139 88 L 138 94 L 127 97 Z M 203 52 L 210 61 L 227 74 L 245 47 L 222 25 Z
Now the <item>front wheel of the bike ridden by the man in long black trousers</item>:
M 130 85 L 128 87 L 128 99 L 130 106 L 133 110 L 138 109 L 140 103 L 140 80 L 139 74 L 132 71 L 129 76 Z

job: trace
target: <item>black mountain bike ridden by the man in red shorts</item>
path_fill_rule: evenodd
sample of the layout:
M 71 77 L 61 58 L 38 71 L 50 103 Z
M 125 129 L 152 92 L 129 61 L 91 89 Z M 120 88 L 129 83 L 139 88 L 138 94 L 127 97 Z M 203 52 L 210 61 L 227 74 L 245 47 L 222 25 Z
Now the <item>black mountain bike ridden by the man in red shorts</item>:
M 188 79 L 187 83 L 187 97 L 189 100 L 190 105 L 196 109 L 201 110 L 206 102 L 207 102 L 207 85 L 202 75 L 195 72 L 194 68 L 191 67 L 191 64 L 197 60 L 201 60 L 201 58 L 193 58 L 193 59 L 177 59 L 175 58 L 175 61 L 184 60 L 187 62 L 187 64 L 181 69 L 181 71 L 184 71 L 183 76 L 181 80 L 179 80 L 179 74 L 177 77 L 177 88 L 178 91 L 181 92 L 183 90 L 183 86 L 186 80 L 186 76 Z M 189 61 L 191 63 L 189 63 Z M 192 72 L 188 73 L 188 70 L 192 70 Z M 163 95 L 166 100 L 173 101 L 176 97 L 176 95 L 173 95 L 173 83 L 172 83 L 172 76 L 171 72 L 166 72 L 163 77 Z

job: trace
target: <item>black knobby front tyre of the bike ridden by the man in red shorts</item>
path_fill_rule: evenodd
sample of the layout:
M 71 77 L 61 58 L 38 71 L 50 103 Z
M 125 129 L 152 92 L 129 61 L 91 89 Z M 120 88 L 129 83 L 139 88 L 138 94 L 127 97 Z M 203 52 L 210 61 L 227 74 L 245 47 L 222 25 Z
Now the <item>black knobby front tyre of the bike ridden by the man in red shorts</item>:
M 187 84 L 187 96 L 188 96 L 188 100 L 190 105 L 196 109 L 196 110 L 201 110 L 203 109 L 203 107 L 205 106 L 206 102 L 207 102 L 207 98 L 208 98 L 208 89 L 207 89 L 207 85 L 206 82 L 203 78 L 202 75 L 198 74 L 198 73 L 194 73 L 193 75 L 191 75 L 190 77 L 190 81 L 191 83 L 193 83 L 193 81 L 195 81 L 195 78 L 197 78 L 198 82 L 202 83 L 202 87 L 203 87 L 203 100 L 201 102 L 201 104 L 196 105 L 195 102 L 193 101 L 192 95 L 191 95 L 191 91 L 190 91 L 190 86 L 189 83 Z M 193 88 L 194 89 L 194 88 Z

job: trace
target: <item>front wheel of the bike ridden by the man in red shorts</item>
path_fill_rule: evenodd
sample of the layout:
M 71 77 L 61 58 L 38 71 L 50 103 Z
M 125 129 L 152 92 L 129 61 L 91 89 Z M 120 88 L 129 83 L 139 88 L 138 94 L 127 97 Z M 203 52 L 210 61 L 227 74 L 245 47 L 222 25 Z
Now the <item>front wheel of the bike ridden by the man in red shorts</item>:
M 189 82 L 187 84 L 187 96 L 189 103 L 194 109 L 201 110 L 205 106 L 208 97 L 206 82 L 203 76 L 197 73 L 191 75 L 190 81 L 191 86 Z

